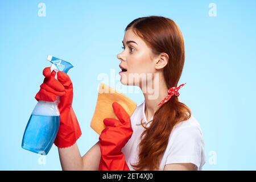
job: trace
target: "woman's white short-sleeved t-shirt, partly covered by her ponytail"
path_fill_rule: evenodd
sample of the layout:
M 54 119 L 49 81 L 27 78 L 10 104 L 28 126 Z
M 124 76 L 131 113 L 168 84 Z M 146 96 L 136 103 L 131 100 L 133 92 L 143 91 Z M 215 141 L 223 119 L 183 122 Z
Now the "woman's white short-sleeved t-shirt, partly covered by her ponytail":
M 131 115 L 133 135 L 125 147 L 122 148 L 126 163 L 131 171 L 135 169 L 130 164 L 138 162 L 139 138 L 144 130 L 144 127 L 141 125 L 141 119 L 142 122 L 148 122 L 145 115 L 145 101 Z M 144 123 L 144 126 L 146 123 Z M 147 123 L 146 127 L 150 126 L 150 123 Z M 199 122 L 197 122 L 192 114 L 191 118 L 180 122 L 172 130 L 159 169 L 163 170 L 166 164 L 172 163 L 192 163 L 197 166 L 197 170 L 201 170 L 205 164 L 203 134 L 201 133 Z

